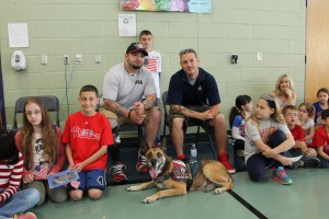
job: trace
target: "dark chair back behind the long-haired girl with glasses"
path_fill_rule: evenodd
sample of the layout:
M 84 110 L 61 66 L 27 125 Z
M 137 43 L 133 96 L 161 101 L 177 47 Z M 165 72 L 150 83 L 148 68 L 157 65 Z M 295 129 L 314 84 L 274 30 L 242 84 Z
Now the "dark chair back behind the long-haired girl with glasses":
M 23 96 L 16 100 L 15 108 L 14 108 L 14 115 L 13 115 L 13 122 L 12 122 L 12 130 L 15 131 L 19 129 L 18 127 L 18 116 L 19 114 L 24 113 L 24 105 L 26 103 L 26 100 L 30 96 Z M 56 126 L 59 127 L 59 100 L 57 96 L 54 95 L 43 95 L 43 96 L 36 96 L 39 97 L 45 106 L 47 107 L 48 112 L 55 113 L 55 123 Z

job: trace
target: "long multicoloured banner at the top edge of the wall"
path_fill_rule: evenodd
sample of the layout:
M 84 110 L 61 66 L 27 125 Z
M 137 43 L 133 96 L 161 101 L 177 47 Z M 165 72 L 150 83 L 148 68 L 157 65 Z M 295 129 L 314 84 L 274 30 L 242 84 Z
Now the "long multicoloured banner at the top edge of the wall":
M 123 10 L 211 13 L 211 0 L 121 0 Z

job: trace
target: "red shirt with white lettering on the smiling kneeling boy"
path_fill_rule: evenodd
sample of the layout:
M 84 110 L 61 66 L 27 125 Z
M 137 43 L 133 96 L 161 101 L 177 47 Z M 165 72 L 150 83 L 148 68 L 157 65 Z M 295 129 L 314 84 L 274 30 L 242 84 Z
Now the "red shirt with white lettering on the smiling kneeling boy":
M 107 118 L 100 113 L 93 116 L 84 116 L 81 112 L 71 114 L 67 118 L 61 142 L 70 143 L 75 163 L 87 160 L 102 146 L 114 145 Z M 86 165 L 83 171 L 106 170 L 106 162 L 107 153 Z

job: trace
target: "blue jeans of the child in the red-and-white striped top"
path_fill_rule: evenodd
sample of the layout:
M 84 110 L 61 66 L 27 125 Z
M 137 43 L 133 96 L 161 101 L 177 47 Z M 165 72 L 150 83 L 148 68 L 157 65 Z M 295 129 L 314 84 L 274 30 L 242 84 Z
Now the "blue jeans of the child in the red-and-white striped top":
M 2 193 L 3 189 L 0 189 Z M 35 188 L 18 191 L 9 199 L 0 204 L 0 219 L 11 218 L 18 212 L 24 212 L 38 203 L 39 195 Z

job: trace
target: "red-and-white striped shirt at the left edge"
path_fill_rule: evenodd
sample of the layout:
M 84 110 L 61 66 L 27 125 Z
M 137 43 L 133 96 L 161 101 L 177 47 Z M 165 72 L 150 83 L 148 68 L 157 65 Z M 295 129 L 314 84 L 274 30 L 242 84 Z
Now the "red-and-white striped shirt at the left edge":
M 18 163 L 0 162 L 0 203 L 10 198 L 20 187 L 23 174 L 23 155 L 20 153 Z

